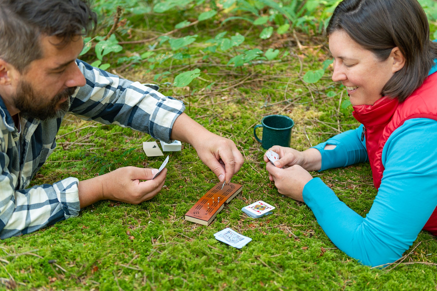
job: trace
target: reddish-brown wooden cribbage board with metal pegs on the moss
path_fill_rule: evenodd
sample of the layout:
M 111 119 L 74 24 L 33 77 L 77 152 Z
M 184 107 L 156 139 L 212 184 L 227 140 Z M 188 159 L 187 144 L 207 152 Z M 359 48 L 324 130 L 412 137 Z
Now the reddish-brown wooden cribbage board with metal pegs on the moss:
M 225 203 L 231 201 L 243 189 L 242 185 L 234 183 L 225 183 L 223 189 L 222 185 L 223 183 L 218 183 L 206 192 L 185 214 L 185 220 L 208 226 L 217 216 L 218 212 L 223 209 Z M 220 201 L 218 197 L 220 197 Z M 213 199 L 214 203 L 212 202 Z

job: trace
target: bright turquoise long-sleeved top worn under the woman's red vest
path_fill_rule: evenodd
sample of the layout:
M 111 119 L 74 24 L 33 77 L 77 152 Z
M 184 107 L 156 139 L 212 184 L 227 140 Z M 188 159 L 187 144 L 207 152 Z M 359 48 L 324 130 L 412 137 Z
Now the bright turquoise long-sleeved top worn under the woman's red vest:
M 437 71 L 434 66 L 431 73 Z M 437 95 L 437 94 L 436 94 Z M 321 171 L 368 161 L 362 125 L 317 145 Z M 333 144 L 333 150 L 325 150 Z M 303 199 L 330 240 L 362 264 L 378 266 L 402 257 L 437 206 L 437 121 L 406 120 L 382 151 L 384 175 L 365 218 L 341 202 L 320 178 L 303 189 Z

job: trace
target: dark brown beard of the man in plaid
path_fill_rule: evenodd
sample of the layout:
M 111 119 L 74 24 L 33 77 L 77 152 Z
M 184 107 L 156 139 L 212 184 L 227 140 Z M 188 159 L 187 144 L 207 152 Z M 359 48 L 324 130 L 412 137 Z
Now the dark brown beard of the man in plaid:
M 17 92 L 13 96 L 14 106 L 23 116 L 35 118 L 39 120 L 47 120 L 50 118 L 59 118 L 64 116 L 70 107 L 69 96 L 72 96 L 77 87 L 69 87 L 58 93 L 49 103 L 42 103 L 49 99 L 47 96 L 42 96 L 35 92 L 31 84 L 21 80 L 17 86 Z M 59 100 L 67 98 L 65 102 L 60 104 Z M 57 107 L 59 107 L 57 109 Z

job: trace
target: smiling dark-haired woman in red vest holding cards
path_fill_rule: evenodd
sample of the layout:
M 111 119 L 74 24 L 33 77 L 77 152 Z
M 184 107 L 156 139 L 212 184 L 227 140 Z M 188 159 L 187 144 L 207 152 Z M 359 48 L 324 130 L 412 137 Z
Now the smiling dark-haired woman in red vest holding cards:
M 421 229 L 437 235 L 437 43 L 416 0 L 344 0 L 326 32 L 332 79 L 362 125 L 302 152 L 274 146 L 281 159 L 266 168 L 340 250 L 366 265 L 392 263 Z M 364 161 L 378 188 L 365 218 L 308 172 Z

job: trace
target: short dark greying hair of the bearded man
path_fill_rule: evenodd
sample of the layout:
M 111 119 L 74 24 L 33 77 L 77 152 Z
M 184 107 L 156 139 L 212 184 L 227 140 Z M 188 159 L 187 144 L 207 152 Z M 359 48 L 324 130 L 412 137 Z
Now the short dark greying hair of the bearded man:
M 97 24 L 90 0 L 0 0 L 0 58 L 19 72 L 42 58 L 41 36 L 65 45 Z

